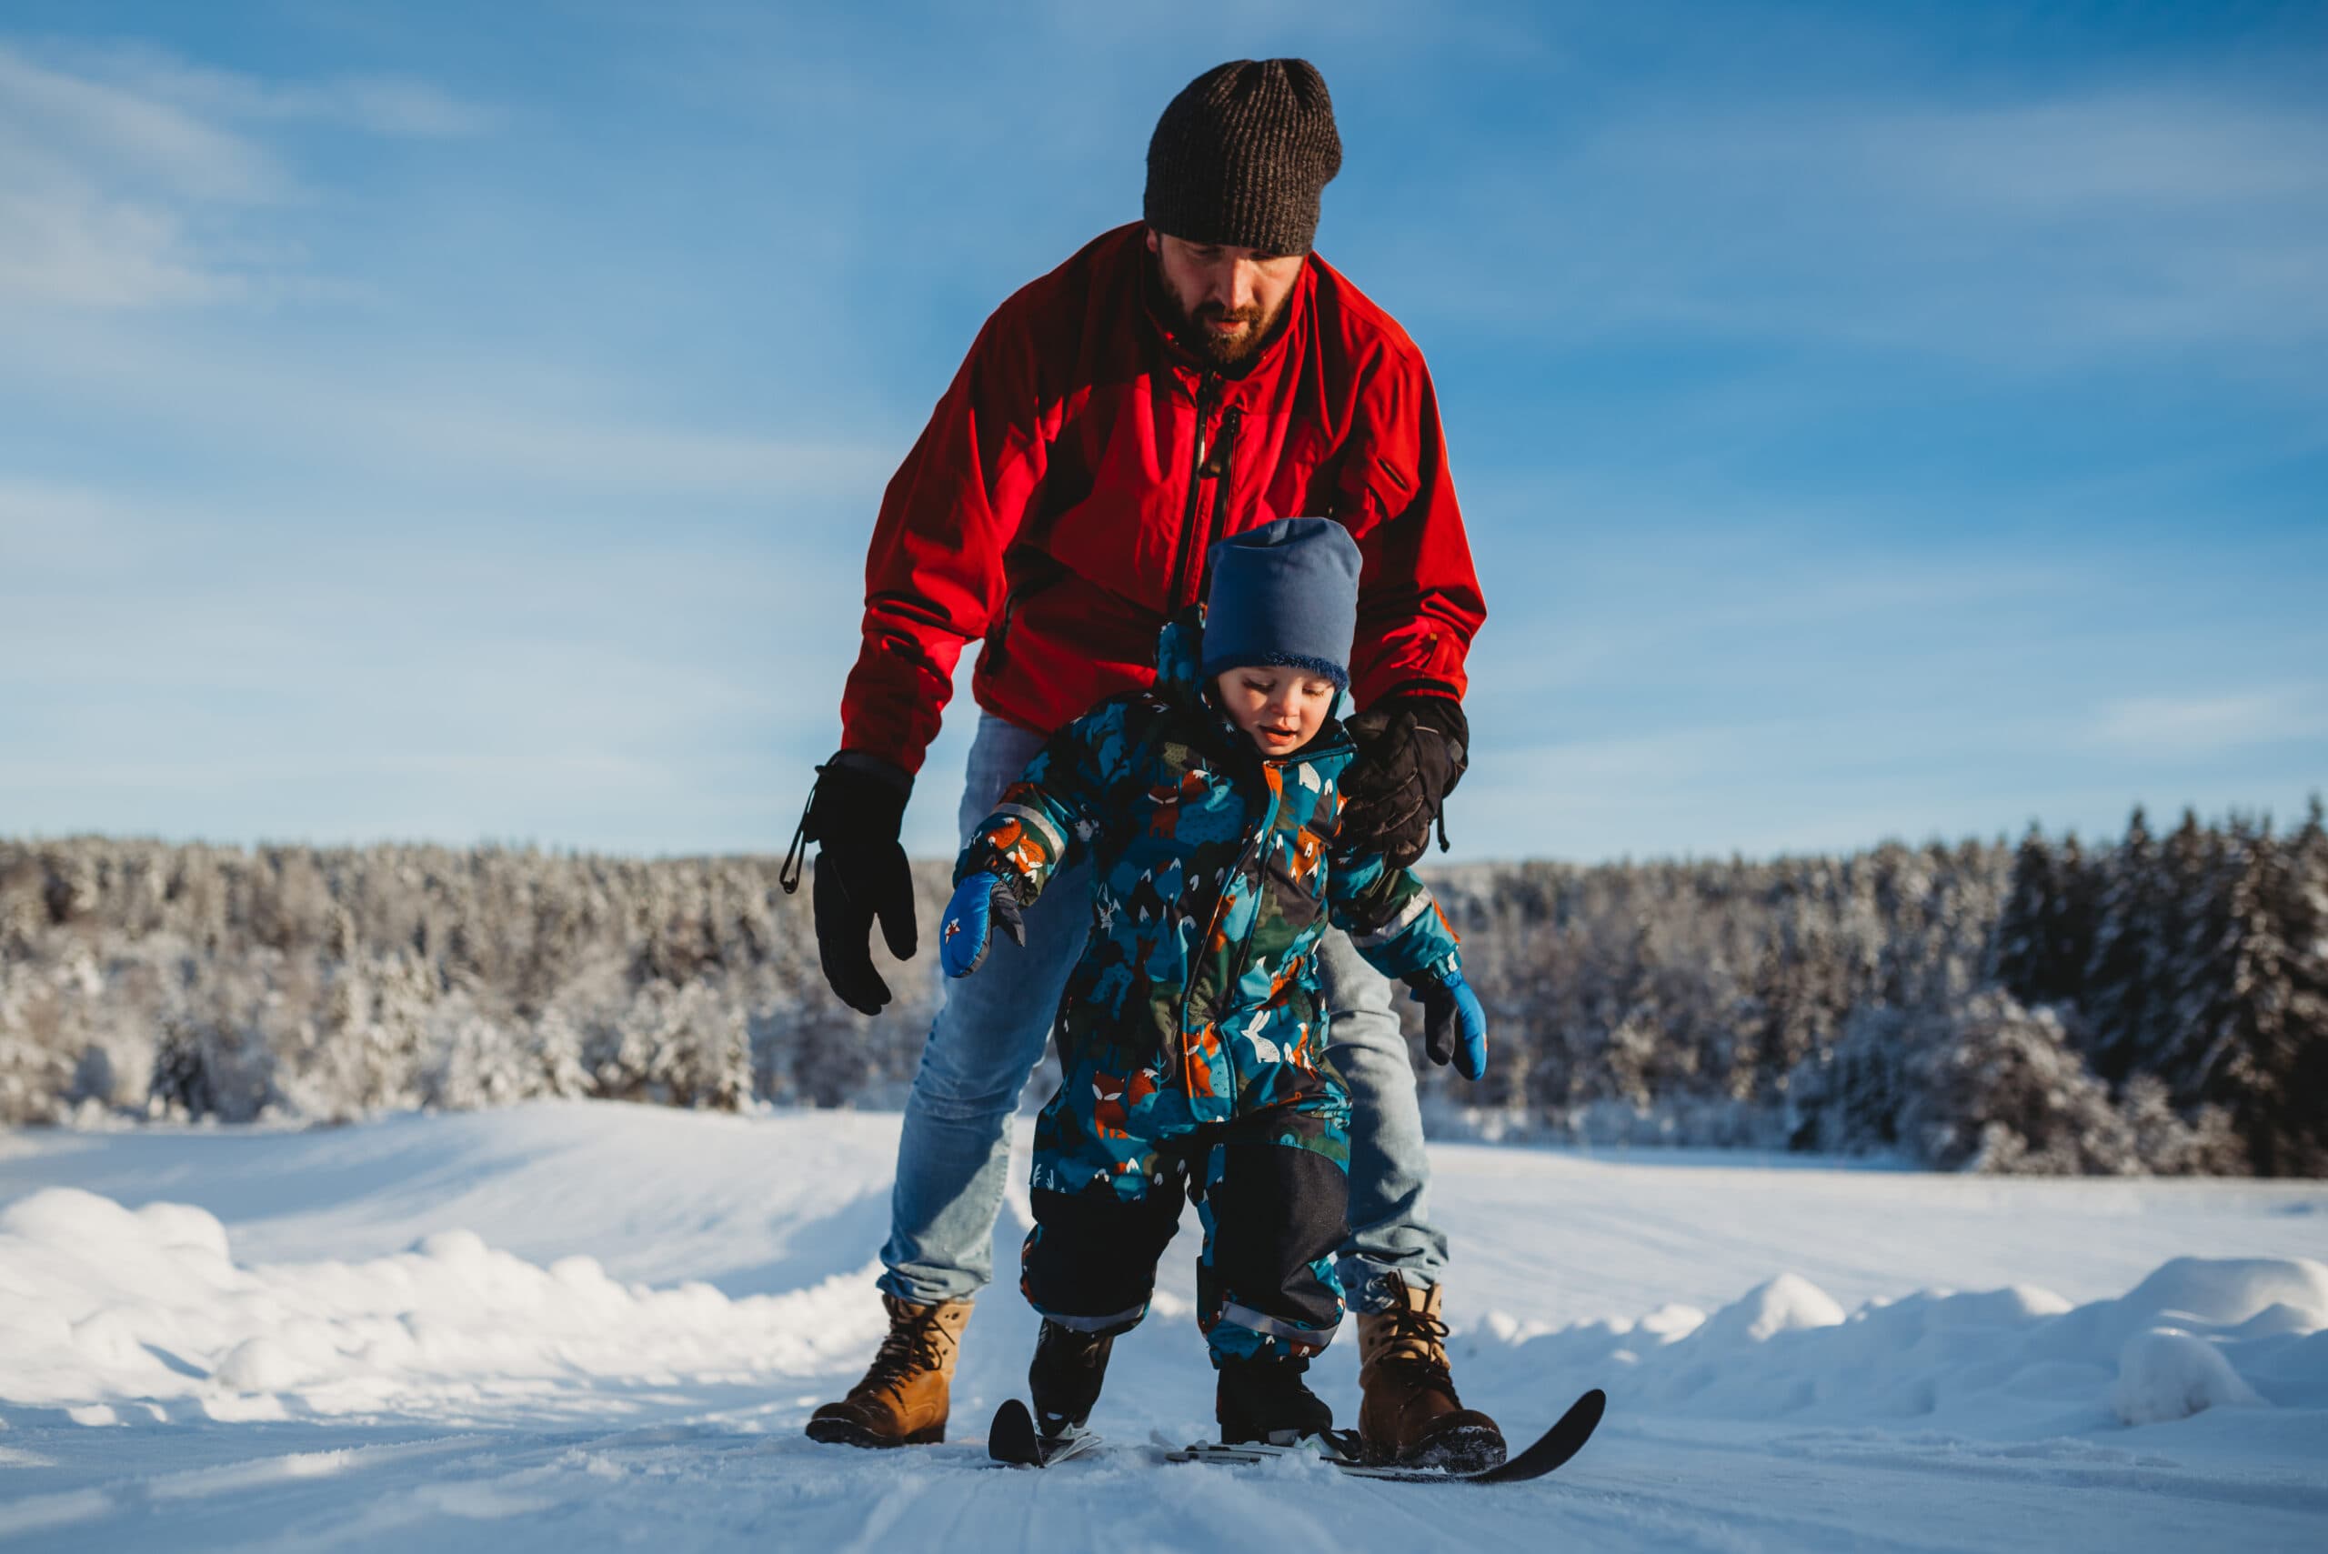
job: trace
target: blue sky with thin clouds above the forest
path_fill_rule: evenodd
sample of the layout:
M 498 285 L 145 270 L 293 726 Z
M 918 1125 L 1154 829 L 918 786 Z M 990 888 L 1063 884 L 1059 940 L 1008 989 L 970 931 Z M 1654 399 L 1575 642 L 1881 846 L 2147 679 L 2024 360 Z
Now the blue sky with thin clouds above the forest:
M 2316 5 L 12 0 L 0 833 L 780 849 L 978 323 L 1269 54 L 1488 579 L 1460 856 L 2328 784 Z

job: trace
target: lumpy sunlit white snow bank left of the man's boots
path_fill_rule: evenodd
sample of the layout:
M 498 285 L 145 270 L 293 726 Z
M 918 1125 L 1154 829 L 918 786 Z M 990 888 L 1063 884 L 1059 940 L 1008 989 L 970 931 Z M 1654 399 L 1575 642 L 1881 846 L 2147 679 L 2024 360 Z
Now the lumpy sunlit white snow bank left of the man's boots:
M 540 1268 L 468 1231 L 242 1266 L 203 1210 L 61 1186 L 0 1212 L 0 1398 L 91 1424 L 605 1410 L 622 1384 L 764 1382 L 861 1354 L 882 1324 L 873 1273 L 731 1300 L 619 1284 L 589 1256 Z

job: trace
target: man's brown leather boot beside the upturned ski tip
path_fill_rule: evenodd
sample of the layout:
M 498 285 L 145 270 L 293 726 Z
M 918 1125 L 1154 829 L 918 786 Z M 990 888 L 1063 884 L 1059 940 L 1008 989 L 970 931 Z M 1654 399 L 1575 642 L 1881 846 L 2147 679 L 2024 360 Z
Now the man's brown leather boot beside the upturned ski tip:
M 1357 1438 L 1367 1456 L 1450 1473 L 1495 1468 L 1504 1461 L 1504 1431 L 1455 1396 L 1439 1286 L 1413 1286 L 1399 1275 L 1385 1284 L 1397 1305 L 1357 1314 Z

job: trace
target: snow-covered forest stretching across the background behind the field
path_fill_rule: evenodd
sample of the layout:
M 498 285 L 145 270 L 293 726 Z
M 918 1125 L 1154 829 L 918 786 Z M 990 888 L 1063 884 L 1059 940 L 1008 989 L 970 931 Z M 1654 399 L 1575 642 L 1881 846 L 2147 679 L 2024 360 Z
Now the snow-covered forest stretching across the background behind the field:
M 0 1121 L 603 1096 L 894 1105 L 934 956 L 861 1019 L 775 858 L 0 842 Z M 2328 831 L 1434 870 L 1495 1019 L 1434 1128 L 2328 1175 Z M 945 870 L 920 868 L 922 924 Z

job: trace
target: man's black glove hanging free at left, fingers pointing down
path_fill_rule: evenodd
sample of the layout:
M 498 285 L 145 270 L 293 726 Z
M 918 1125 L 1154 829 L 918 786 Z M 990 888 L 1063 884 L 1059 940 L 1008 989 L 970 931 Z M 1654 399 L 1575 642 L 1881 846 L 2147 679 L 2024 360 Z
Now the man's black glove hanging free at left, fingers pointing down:
M 908 772 L 880 756 L 840 751 L 817 768 L 778 872 L 787 893 L 801 889 L 801 861 L 808 842 L 817 842 L 817 958 L 833 993 L 859 1014 L 880 1014 L 889 1003 L 889 984 L 873 970 L 873 919 L 899 961 L 910 961 L 917 947 L 913 870 L 896 840 L 910 796 Z

